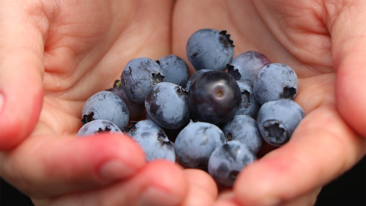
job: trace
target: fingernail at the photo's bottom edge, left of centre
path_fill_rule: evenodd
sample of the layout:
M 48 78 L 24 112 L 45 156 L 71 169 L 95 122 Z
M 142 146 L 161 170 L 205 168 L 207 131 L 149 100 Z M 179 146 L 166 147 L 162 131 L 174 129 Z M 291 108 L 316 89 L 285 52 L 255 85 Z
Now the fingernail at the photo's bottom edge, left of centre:
M 171 206 L 178 205 L 182 198 L 156 187 L 147 188 L 141 195 L 141 206 Z

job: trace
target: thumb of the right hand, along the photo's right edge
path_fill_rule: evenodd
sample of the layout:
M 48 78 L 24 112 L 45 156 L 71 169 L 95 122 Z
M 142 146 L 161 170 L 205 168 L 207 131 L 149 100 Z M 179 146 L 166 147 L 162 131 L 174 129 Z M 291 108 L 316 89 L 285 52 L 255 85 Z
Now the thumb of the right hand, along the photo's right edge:
M 330 5 L 331 6 L 331 5 Z M 334 8 L 332 12 L 337 12 Z M 336 70 L 336 101 L 341 116 L 366 136 L 366 3 L 352 1 L 329 22 Z

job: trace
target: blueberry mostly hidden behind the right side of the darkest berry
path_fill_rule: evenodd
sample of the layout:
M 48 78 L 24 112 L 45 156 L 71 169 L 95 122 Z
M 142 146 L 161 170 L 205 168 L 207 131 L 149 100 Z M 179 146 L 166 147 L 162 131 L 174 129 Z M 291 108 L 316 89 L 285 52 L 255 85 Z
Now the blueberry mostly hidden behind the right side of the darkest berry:
M 261 105 L 255 99 L 253 93 L 253 84 L 250 81 L 236 81 L 242 93 L 242 102 L 236 115 L 248 115 L 257 118 L 258 110 Z

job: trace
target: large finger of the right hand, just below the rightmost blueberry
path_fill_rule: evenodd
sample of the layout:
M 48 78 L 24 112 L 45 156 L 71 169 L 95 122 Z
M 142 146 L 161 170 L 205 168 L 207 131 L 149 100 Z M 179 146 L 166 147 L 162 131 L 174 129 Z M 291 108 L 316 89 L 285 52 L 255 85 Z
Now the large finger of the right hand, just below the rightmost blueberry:
M 365 154 L 334 105 L 307 114 L 290 141 L 247 166 L 234 183 L 244 205 L 276 205 L 320 187 L 350 169 Z

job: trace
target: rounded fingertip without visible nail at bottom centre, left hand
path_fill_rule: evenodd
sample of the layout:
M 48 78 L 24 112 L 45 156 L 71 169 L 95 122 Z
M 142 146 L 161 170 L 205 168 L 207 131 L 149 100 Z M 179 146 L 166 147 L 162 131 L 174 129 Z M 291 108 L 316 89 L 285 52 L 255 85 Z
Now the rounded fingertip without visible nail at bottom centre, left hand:
M 185 169 L 188 193 L 181 206 L 212 206 L 217 197 L 217 186 L 213 178 L 198 169 Z

